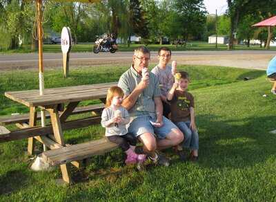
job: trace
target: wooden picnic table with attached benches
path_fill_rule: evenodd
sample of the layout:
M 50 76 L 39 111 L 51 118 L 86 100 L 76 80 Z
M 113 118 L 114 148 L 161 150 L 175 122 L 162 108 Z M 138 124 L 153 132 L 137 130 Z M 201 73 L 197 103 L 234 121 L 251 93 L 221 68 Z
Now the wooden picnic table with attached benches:
M 78 120 L 66 121 L 68 116 L 75 113 L 85 113 L 87 111 L 97 111 L 103 109 L 103 104 L 99 107 L 77 108 L 79 102 L 83 100 L 101 100 L 105 102 L 106 94 L 110 86 L 117 83 L 91 84 L 82 86 L 68 86 L 55 89 L 45 89 L 44 95 L 39 95 L 39 90 L 12 91 L 6 92 L 7 98 L 19 102 L 29 107 L 28 124 L 20 122 L 20 118 L 9 120 L 16 123 L 21 128 L 16 131 L 0 129 L 0 142 L 28 138 L 28 152 L 33 154 L 34 139 L 39 140 L 50 150 L 43 152 L 43 158 L 52 165 L 60 165 L 63 181 L 71 183 L 70 171 L 67 163 L 78 166 L 76 160 L 90 157 L 93 154 L 102 154 L 106 150 L 117 147 L 105 139 L 94 140 L 89 143 L 78 145 L 66 145 L 63 137 L 63 130 L 86 127 L 100 122 L 100 115 Z M 46 127 L 37 126 L 37 108 L 46 110 L 50 118 L 50 125 Z M 23 118 L 21 118 L 23 120 Z M 7 121 L 7 119 L 6 119 Z M 0 120 L 1 122 L 1 120 Z M 10 123 L 9 122 L 9 123 Z M 53 134 L 53 135 L 52 135 Z

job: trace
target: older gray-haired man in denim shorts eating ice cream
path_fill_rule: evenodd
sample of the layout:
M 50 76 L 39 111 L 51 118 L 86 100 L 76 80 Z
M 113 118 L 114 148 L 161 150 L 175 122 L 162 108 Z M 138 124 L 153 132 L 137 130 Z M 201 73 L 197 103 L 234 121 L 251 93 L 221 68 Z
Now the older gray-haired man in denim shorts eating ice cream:
M 178 145 L 184 140 L 184 135 L 162 115 L 158 78 L 153 73 L 148 73 L 149 79 L 142 80 L 142 70 L 148 68 L 150 51 L 140 46 L 132 59 L 132 66 L 121 75 L 118 83 L 125 94 L 122 105 L 130 113 L 128 132 L 135 134 L 143 144 L 143 151 L 137 153 L 144 152 L 154 163 L 168 166 L 168 159 L 157 154 L 156 149 Z

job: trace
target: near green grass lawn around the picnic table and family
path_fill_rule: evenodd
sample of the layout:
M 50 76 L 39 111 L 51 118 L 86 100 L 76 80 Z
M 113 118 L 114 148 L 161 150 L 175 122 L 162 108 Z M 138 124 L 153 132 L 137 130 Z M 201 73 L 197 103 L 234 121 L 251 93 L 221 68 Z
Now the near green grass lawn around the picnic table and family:
M 121 66 L 46 71 L 46 88 L 114 82 Z M 180 66 L 190 73 L 199 128 L 198 163 L 181 163 L 171 149 L 170 167 L 137 172 L 123 164 L 116 149 L 95 156 L 87 167 L 72 169 L 77 183 L 57 185 L 59 169 L 32 172 L 27 140 L 0 145 L 0 201 L 275 201 L 275 95 L 264 71 L 212 66 Z M 28 111 L 3 98 L 5 91 L 35 89 L 36 71 L 0 74 L 1 115 Z M 250 80 L 244 81 L 244 77 Z M 266 94 L 266 97 L 262 95 Z M 88 104 L 84 102 L 82 104 Z M 100 125 L 66 131 L 68 143 L 101 138 Z M 41 146 L 37 144 L 37 148 Z

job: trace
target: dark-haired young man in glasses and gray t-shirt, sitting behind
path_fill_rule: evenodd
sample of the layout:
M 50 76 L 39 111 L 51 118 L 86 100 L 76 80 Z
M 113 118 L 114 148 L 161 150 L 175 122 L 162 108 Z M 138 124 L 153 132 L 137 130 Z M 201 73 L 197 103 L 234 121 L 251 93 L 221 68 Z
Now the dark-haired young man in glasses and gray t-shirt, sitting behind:
M 172 88 L 172 84 L 174 83 L 173 74 L 176 72 L 175 68 L 168 66 L 168 62 L 170 62 L 170 57 L 172 53 L 169 48 L 161 47 L 158 50 L 158 59 L 159 63 L 157 66 L 152 68 L 152 73 L 154 73 L 159 80 L 160 89 L 161 89 L 161 100 L 163 102 L 163 115 L 168 118 L 168 114 L 170 113 L 170 104 L 167 102 L 167 94 L 168 91 Z M 176 64 L 175 64 L 176 66 Z M 172 72 L 173 70 L 173 72 Z

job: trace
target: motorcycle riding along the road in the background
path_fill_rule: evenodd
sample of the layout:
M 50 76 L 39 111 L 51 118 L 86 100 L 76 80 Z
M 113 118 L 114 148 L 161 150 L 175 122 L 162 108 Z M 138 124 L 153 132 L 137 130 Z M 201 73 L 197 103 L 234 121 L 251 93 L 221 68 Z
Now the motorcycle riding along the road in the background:
M 118 50 L 118 46 L 115 40 L 108 41 L 107 39 L 97 39 L 93 47 L 93 53 L 110 52 L 115 53 Z

